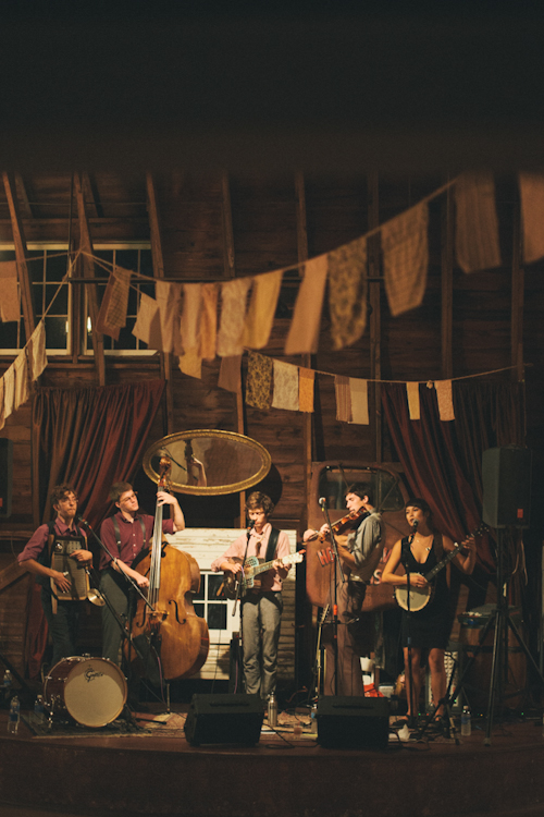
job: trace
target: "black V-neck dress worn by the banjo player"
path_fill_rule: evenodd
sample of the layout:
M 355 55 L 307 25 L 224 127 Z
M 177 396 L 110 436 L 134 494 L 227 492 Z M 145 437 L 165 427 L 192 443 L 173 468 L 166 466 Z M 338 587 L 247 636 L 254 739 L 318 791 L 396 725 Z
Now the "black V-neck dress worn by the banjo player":
M 408 571 L 410 573 L 421 573 L 422 575 L 425 575 L 435 566 L 435 564 L 438 563 L 442 556 L 438 558 L 436 553 L 440 548 L 436 538 L 435 535 L 426 561 L 423 562 L 423 564 L 418 562 L 415 559 L 411 549 L 408 549 L 408 537 L 403 539 L 403 564 L 405 563 L 405 559 L 407 559 Z M 437 573 L 432 584 L 434 585 L 434 593 L 422 610 L 411 613 L 403 610 L 404 647 L 408 646 L 408 615 L 410 615 L 412 647 L 420 647 L 421 649 L 447 648 L 449 633 L 452 631 L 452 619 L 449 612 L 449 588 L 447 586 L 445 569 Z

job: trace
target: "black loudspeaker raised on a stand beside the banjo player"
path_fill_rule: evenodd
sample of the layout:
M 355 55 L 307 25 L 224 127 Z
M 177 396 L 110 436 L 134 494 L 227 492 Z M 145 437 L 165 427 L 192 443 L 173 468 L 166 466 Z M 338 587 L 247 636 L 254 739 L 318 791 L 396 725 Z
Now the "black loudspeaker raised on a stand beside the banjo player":
M 482 455 L 482 519 L 491 527 L 529 527 L 531 460 L 527 448 L 489 448 Z

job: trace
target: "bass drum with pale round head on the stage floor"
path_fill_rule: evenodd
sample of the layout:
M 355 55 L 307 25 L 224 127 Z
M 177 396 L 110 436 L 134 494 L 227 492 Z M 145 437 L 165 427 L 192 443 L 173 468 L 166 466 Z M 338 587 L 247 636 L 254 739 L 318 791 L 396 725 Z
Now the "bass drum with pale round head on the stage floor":
M 44 699 L 53 711 L 67 712 L 84 727 L 106 727 L 126 704 L 126 681 L 108 658 L 63 658 L 44 683 Z

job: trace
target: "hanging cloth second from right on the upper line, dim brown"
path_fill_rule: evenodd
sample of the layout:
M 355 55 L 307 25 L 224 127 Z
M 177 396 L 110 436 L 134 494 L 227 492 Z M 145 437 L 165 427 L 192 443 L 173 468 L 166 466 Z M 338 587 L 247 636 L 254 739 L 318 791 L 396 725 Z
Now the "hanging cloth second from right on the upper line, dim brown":
M 465 272 L 500 266 L 495 183 L 491 173 L 462 173 L 455 183 L 457 263 Z

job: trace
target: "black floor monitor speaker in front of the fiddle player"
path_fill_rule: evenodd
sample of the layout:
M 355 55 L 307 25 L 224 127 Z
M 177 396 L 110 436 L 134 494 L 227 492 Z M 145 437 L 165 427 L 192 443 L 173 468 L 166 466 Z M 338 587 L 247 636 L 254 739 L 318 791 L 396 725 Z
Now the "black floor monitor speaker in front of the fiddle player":
M 325 748 L 387 748 L 390 702 L 325 695 L 318 700 L 318 743 Z

